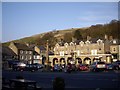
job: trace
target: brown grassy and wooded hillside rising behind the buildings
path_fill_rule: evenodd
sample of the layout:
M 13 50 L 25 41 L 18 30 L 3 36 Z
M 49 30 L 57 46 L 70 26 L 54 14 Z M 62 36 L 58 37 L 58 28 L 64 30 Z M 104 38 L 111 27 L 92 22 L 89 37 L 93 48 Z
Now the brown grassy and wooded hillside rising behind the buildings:
M 19 43 L 30 43 L 30 44 L 36 44 L 36 45 L 46 45 L 47 40 L 49 41 L 49 46 L 53 47 L 56 42 L 59 41 L 72 41 L 72 38 L 75 37 L 75 32 L 78 30 L 79 35 L 81 35 L 82 38 L 77 39 L 86 39 L 87 36 L 90 36 L 91 38 L 96 37 L 104 37 L 104 35 L 112 36 L 113 38 L 120 39 L 120 22 L 117 20 L 112 20 L 108 24 L 97 24 L 97 25 L 91 25 L 90 27 L 86 28 L 70 28 L 65 30 L 54 30 L 51 32 L 46 32 L 42 34 L 33 35 L 31 37 L 25 37 L 19 40 L 14 40 L 12 42 L 19 42 Z M 10 41 L 11 42 L 11 41 Z M 3 43 L 3 45 L 8 46 L 10 42 Z

